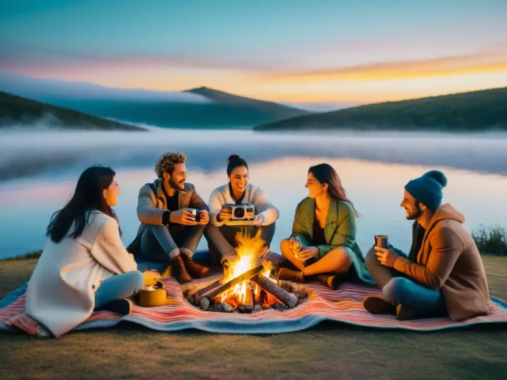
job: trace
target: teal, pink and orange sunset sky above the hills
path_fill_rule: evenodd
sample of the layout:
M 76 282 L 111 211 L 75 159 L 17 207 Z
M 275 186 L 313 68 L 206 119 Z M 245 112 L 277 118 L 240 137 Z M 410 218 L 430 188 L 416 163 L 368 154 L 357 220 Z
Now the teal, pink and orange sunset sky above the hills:
M 2 0 L 0 69 L 370 103 L 507 86 L 507 1 Z

